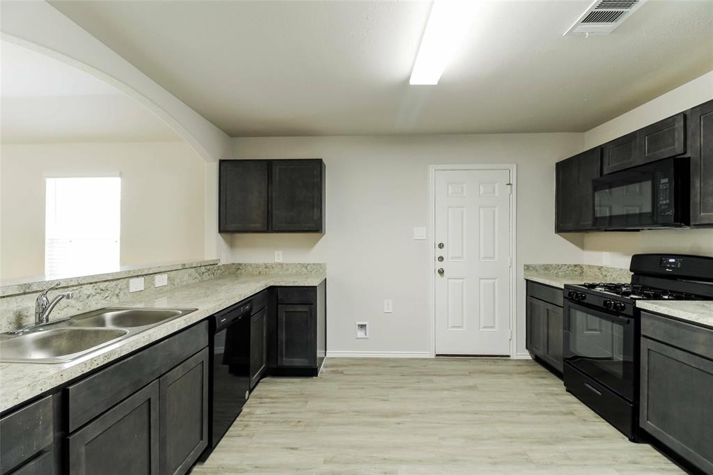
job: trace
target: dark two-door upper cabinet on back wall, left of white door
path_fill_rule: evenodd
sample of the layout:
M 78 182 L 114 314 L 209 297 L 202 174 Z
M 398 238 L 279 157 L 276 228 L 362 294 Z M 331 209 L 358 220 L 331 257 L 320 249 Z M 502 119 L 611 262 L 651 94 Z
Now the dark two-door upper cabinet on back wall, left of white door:
M 220 160 L 220 233 L 324 233 L 324 162 Z

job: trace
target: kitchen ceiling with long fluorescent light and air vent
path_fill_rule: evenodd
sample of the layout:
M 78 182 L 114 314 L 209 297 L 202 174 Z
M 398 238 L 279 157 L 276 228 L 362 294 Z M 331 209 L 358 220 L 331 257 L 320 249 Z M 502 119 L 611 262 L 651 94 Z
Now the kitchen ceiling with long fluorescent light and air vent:
M 713 70 L 713 1 L 484 1 L 438 86 L 409 86 L 421 1 L 53 1 L 231 136 L 586 131 Z

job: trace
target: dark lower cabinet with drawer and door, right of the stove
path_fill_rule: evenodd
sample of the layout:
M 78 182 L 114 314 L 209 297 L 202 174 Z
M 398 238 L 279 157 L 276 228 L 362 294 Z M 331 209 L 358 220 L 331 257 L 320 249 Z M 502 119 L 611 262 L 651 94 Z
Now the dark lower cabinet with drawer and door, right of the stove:
M 640 426 L 713 474 L 713 330 L 642 312 Z

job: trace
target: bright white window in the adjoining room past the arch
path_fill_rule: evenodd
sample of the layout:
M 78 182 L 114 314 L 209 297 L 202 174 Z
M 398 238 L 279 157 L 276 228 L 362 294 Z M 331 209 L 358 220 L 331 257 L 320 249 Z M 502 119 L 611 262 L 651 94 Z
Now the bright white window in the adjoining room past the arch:
M 45 274 L 119 269 L 121 178 L 46 178 Z

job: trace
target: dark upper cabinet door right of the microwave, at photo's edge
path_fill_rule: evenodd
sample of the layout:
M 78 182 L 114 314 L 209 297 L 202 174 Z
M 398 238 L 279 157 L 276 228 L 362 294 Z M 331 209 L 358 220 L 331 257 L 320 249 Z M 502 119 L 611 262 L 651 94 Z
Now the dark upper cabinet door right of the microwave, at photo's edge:
M 691 109 L 691 224 L 713 225 L 713 101 Z

